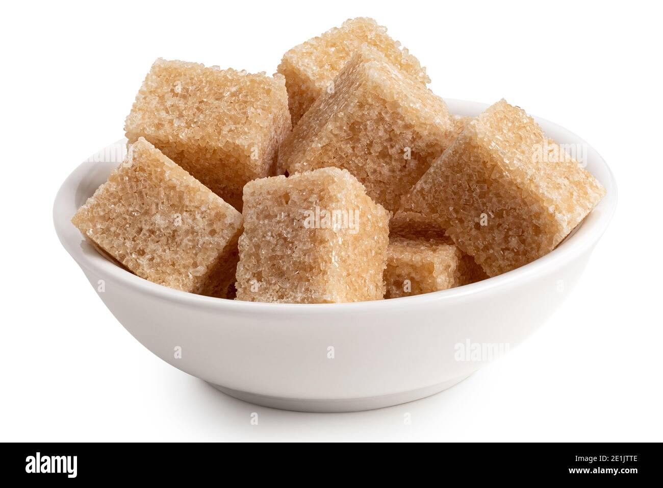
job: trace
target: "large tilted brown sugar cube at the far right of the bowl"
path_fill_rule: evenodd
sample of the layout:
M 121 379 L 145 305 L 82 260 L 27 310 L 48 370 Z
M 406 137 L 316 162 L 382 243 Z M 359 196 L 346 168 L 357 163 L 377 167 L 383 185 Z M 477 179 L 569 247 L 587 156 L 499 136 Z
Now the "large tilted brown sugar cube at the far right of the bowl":
M 605 189 L 523 110 L 501 100 L 467 124 L 404 198 L 489 276 L 552 251 Z

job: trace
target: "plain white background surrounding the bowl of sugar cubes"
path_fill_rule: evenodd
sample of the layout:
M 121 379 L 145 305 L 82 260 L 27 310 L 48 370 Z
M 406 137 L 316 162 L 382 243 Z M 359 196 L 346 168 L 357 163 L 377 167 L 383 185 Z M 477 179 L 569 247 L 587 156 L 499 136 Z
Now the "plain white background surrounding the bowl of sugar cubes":
M 663 441 L 659 8 L 5 4 L 0 440 Z M 154 58 L 271 74 L 288 48 L 360 15 L 421 60 L 437 94 L 505 97 L 589 141 L 615 173 L 617 214 L 548 323 L 452 389 L 354 414 L 253 406 L 166 365 L 117 323 L 60 246 L 52 200 L 123 135 Z

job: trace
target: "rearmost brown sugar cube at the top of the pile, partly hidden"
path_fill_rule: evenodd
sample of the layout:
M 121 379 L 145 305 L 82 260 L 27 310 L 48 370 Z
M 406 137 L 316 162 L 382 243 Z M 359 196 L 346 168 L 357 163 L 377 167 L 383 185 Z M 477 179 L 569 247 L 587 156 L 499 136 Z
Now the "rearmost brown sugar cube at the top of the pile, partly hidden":
M 286 77 L 292 125 L 299 122 L 313 102 L 362 44 L 377 48 L 389 61 L 418 82 L 430 82 L 426 68 L 400 43 L 387 35 L 387 28 L 373 19 L 348 19 L 320 37 L 299 44 L 284 54 L 278 72 Z

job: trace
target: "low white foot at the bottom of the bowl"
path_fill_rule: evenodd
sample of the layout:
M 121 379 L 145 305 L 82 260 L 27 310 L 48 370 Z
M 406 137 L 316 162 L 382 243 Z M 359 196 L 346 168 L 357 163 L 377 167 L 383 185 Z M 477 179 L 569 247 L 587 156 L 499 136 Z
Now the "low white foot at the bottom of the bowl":
M 470 373 L 471 374 L 471 373 Z M 306 398 L 283 398 L 280 396 L 267 396 L 255 393 L 243 392 L 226 388 L 219 384 L 210 383 L 211 386 L 227 395 L 233 396 L 245 402 L 267 406 L 269 408 L 278 408 L 279 410 L 294 410 L 295 412 L 316 412 L 316 413 L 334 413 L 334 412 L 361 412 L 362 410 L 375 410 L 388 406 L 399 405 L 402 403 L 420 400 L 436 393 L 442 392 L 453 385 L 458 384 L 467 376 L 459 376 L 442 383 L 410 390 L 408 392 L 394 393 L 390 395 L 369 396 L 367 398 L 347 398 L 330 400 L 308 400 Z

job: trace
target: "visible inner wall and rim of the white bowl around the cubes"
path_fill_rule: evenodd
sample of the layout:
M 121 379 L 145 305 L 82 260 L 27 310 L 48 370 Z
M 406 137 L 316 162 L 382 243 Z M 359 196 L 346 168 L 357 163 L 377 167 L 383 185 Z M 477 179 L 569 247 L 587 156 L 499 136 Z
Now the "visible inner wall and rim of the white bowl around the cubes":
M 453 114 L 476 116 L 483 112 L 489 105 L 481 104 L 479 102 L 466 102 L 463 100 L 445 100 Z M 81 236 L 80 232 L 71 224 L 70 220 L 76 213 L 76 210 L 82 206 L 94 191 L 104 183 L 111 173 L 113 168 L 117 167 L 123 160 L 126 153 L 126 139 L 121 139 L 104 149 L 101 149 L 95 155 L 84 161 L 62 184 L 56 201 L 54 203 L 53 217 L 56 232 L 66 250 L 72 255 L 74 260 L 86 270 L 90 270 L 97 275 L 109 276 L 117 282 L 129 287 L 146 293 L 153 293 L 162 295 L 162 297 L 183 301 L 188 304 L 196 306 L 210 306 L 210 307 L 250 307 L 255 310 L 269 307 L 269 310 L 274 311 L 277 307 L 282 309 L 311 309 L 314 307 L 318 311 L 329 309 L 330 307 L 385 307 L 389 306 L 390 302 L 404 303 L 407 300 L 416 306 L 417 302 L 426 301 L 428 299 L 439 299 L 440 297 L 452 297 L 458 295 L 466 295 L 467 293 L 475 293 L 482 289 L 489 287 L 499 286 L 507 283 L 509 280 L 517 280 L 524 274 L 536 272 L 537 268 L 542 266 L 556 266 L 556 260 L 570 259 L 574 255 L 579 254 L 588 246 L 593 246 L 599 239 L 601 234 L 607 228 L 607 224 L 611 219 L 615 206 L 617 204 L 617 187 L 613 175 L 606 165 L 601 156 L 583 139 L 564 129 L 556 123 L 548 122 L 547 120 L 534 117 L 544 129 L 546 134 L 555 139 L 561 144 L 573 145 L 579 147 L 583 151 L 584 161 L 587 163 L 587 169 L 601 182 L 605 187 L 607 193 L 601 203 L 581 222 L 572 234 L 568 236 L 560 246 L 555 250 L 539 258 L 538 260 L 522 266 L 511 272 L 495 276 L 484 280 L 483 282 L 465 285 L 462 287 L 452 288 L 444 291 L 436 291 L 434 293 L 426 293 L 424 295 L 416 295 L 412 297 L 401 297 L 390 300 L 379 301 L 366 301 L 356 303 L 332 303 L 332 304 L 288 304 L 288 303 L 256 303 L 244 302 L 238 300 L 225 300 L 211 297 L 204 297 L 195 295 L 193 293 L 185 293 L 175 289 L 170 289 L 162 285 L 153 284 L 143 278 L 139 278 L 119 266 L 116 266 L 103 256 L 99 254 L 93 246 L 91 246 Z

